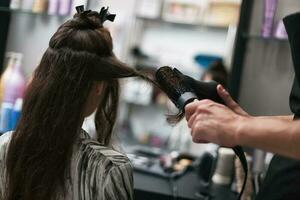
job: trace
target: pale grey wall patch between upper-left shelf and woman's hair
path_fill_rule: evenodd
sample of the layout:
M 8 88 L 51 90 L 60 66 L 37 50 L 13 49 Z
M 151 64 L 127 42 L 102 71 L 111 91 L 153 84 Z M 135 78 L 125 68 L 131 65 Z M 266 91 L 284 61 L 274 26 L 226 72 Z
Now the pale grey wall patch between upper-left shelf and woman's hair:
M 48 47 L 50 37 L 65 21 L 56 16 L 13 13 L 7 40 L 7 51 L 24 54 L 23 67 L 28 77 Z

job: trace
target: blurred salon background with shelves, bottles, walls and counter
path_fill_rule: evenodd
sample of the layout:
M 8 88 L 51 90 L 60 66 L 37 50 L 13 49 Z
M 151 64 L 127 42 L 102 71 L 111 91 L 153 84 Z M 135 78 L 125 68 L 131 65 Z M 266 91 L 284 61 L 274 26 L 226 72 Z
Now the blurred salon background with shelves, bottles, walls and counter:
M 297 0 L 1 0 L 1 133 L 14 130 L 33 70 L 78 5 L 117 14 L 105 26 L 116 56 L 130 66 L 149 74 L 176 67 L 222 83 L 252 115 L 290 114 L 294 71 L 282 18 L 300 9 Z M 185 120 L 168 124 L 166 115 L 177 110 L 158 88 L 122 83 L 113 145 L 132 160 L 136 199 L 205 199 L 212 184 L 222 186 L 221 199 L 234 199 L 241 181 L 234 153 L 193 144 Z M 83 128 L 94 137 L 92 119 Z M 251 199 L 272 155 L 246 152 L 253 176 L 244 198 Z

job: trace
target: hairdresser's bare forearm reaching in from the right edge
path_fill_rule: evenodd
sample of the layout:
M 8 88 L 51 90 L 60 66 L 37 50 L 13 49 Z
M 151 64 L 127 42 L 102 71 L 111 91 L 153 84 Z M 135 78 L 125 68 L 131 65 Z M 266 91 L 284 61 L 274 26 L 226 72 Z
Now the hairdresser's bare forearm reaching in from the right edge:
M 243 117 L 237 125 L 239 145 L 300 159 L 300 121 L 290 117 Z

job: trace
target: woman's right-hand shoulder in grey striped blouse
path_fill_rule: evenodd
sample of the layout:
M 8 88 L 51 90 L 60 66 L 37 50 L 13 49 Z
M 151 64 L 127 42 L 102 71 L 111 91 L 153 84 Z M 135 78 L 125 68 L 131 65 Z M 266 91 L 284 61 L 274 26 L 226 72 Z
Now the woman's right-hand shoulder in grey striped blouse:
M 87 136 L 80 139 L 75 155 L 75 183 L 89 188 L 91 199 L 133 199 L 132 166 L 125 154 Z

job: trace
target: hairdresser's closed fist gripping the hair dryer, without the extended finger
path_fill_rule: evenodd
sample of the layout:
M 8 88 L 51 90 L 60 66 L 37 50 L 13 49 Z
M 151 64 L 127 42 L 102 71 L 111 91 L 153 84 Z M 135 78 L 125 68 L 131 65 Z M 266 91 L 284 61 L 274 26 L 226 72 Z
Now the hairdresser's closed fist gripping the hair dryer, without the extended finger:
M 211 100 L 195 100 L 188 104 L 185 107 L 185 115 L 193 141 L 212 142 L 226 147 L 238 145 L 239 125 L 249 116 L 240 110 L 237 111 L 241 114 Z

